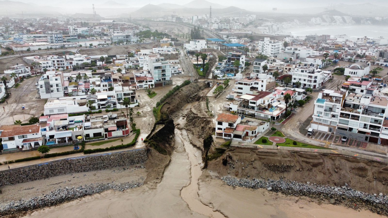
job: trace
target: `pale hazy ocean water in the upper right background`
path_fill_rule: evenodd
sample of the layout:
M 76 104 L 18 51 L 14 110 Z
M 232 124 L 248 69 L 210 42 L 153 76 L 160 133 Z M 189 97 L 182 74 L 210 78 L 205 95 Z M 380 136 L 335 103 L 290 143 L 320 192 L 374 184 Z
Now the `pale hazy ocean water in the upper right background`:
M 307 26 L 303 28 L 291 28 L 282 31 L 284 34 L 291 33 L 293 36 L 306 35 L 347 35 L 350 39 L 367 36 L 369 38 L 378 38 L 383 36 L 388 38 L 388 26 L 374 25 L 352 25 L 352 26 Z

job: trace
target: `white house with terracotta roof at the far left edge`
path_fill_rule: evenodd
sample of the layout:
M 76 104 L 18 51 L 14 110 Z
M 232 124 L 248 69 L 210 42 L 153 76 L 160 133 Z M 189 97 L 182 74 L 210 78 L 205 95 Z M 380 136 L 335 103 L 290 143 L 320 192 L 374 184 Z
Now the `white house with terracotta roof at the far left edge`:
M 0 128 L 3 151 L 31 150 L 43 144 L 40 125 L 12 125 Z

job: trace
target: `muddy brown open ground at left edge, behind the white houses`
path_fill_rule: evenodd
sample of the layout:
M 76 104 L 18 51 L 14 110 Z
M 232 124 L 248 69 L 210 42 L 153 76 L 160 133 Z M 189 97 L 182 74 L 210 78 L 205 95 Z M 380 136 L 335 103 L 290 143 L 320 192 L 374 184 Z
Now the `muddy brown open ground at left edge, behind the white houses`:
M 8 104 L 7 102 L 1 104 L 5 111 L 0 114 L 0 125 L 13 125 L 15 120 L 25 123 L 31 116 L 40 116 L 46 100 L 39 98 L 35 86 L 38 78 L 32 76 L 24 80 L 18 88 L 8 89 L 11 95 L 7 99 Z

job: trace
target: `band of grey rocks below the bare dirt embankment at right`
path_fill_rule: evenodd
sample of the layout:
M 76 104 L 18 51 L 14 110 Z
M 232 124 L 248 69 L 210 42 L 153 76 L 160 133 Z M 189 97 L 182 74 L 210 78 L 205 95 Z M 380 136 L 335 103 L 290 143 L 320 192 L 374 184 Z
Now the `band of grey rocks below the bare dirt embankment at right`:
M 327 201 L 331 204 L 340 204 L 353 209 L 369 209 L 379 215 L 388 216 L 388 196 L 383 193 L 368 194 L 348 187 L 344 184 L 342 187 L 325 186 L 312 184 L 310 182 L 299 183 L 290 180 L 264 180 L 264 179 L 246 179 L 235 178 L 232 176 L 223 176 L 221 178 L 229 186 L 245 187 L 250 189 L 267 189 L 272 192 L 281 192 L 291 196 L 306 196 L 320 201 Z

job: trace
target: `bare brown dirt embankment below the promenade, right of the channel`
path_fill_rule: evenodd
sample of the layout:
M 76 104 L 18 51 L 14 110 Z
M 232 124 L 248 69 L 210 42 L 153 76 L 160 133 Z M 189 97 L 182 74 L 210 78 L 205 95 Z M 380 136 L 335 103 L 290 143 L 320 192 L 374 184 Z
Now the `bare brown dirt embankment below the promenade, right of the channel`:
M 283 178 L 343 186 L 368 193 L 388 192 L 387 164 L 340 155 L 232 148 L 208 169 L 240 178 Z

